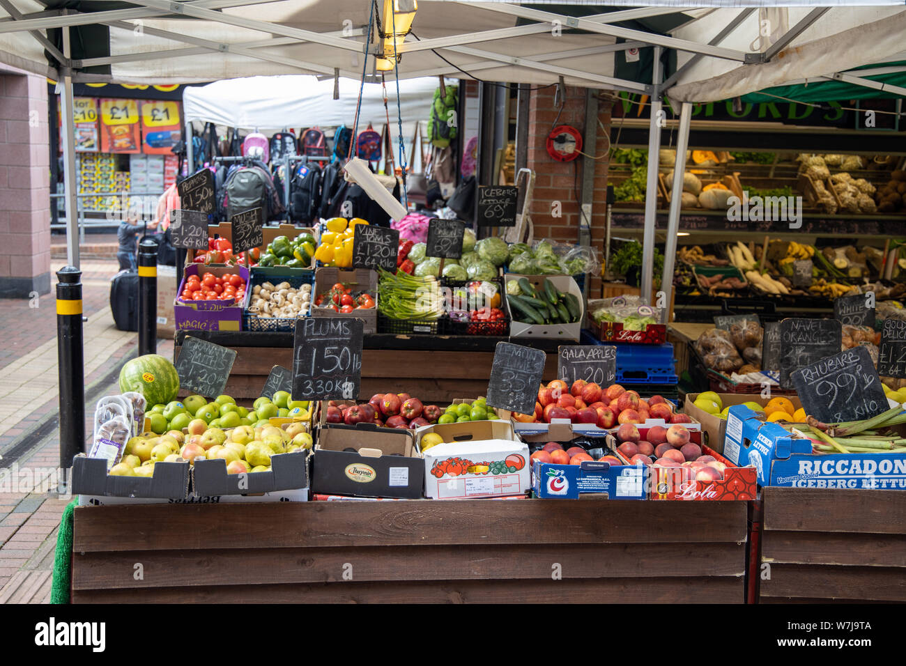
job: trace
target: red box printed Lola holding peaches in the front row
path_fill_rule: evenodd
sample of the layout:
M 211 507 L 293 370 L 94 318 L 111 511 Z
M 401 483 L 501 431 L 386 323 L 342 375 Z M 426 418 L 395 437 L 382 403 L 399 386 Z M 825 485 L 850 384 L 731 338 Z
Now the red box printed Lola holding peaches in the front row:
M 717 458 L 727 467 L 724 478 L 717 481 L 697 481 L 692 470 L 687 468 L 661 468 L 651 466 L 651 499 L 686 500 L 750 500 L 757 497 L 757 470 L 754 467 L 737 467 L 730 460 L 707 446 L 701 448 L 704 455 Z M 622 458 L 622 456 L 621 456 Z

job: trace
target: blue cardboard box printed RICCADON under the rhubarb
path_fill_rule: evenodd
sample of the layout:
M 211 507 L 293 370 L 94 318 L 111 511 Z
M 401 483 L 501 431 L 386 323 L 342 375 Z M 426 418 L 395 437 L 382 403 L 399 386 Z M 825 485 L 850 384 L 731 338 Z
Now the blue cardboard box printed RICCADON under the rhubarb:
M 754 466 L 759 486 L 906 489 L 906 454 L 815 455 L 811 439 L 759 420 L 744 405 L 729 410 L 724 457 Z

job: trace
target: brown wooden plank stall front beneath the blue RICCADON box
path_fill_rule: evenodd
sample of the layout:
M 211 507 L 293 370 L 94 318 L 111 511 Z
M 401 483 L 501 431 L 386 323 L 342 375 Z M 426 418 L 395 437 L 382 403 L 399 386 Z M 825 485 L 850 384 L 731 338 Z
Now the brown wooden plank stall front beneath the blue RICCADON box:
M 906 601 L 906 492 L 762 492 L 760 603 Z

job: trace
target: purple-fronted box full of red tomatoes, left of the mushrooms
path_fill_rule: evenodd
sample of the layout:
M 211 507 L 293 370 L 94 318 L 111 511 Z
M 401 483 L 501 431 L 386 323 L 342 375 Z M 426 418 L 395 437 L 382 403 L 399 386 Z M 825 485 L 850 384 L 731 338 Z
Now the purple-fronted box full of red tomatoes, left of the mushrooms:
M 218 284 L 219 280 L 219 284 Z M 227 288 L 226 283 L 229 283 Z M 234 284 L 235 283 L 235 284 Z M 195 288 L 193 289 L 193 285 Z M 248 285 L 245 266 L 188 265 L 179 285 L 173 314 L 176 327 L 183 331 L 239 331 Z M 220 291 L 217 292 L 217 287 Z M 187 289 L 188 287 L 188 289 Z M 211 290 L 213 297 L 186 300 L 188 293 Z

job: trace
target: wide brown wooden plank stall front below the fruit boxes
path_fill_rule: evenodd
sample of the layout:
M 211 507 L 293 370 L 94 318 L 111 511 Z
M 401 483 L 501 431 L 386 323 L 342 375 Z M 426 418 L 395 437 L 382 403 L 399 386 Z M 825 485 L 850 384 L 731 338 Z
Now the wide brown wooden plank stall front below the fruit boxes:
M 72 603 L 743 603 L 747 503 L 79 507 L 73 538 Z

